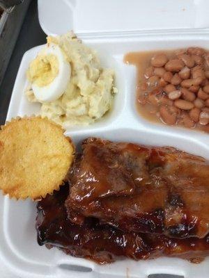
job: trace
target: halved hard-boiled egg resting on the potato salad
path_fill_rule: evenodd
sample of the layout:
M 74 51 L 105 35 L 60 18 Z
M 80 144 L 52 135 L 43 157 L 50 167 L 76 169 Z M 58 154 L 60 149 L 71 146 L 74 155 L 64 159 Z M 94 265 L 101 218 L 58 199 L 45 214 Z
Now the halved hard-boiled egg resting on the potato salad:
M 38 101 L 59 99 L 70 81 L 71 67 L 57 44 L 48 43 L 29 65 L 27 77 Z

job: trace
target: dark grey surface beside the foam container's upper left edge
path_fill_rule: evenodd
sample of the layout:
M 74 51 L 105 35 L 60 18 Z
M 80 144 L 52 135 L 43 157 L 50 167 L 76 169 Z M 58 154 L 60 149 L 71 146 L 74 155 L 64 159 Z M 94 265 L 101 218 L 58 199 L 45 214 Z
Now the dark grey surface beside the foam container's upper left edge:
M 32 0 L 0 86 L 0 125 L 4 124 L 6 120 L 15 78 L 24 52 L 45 42 L 46 35 L 38 22 L 37 0 Z

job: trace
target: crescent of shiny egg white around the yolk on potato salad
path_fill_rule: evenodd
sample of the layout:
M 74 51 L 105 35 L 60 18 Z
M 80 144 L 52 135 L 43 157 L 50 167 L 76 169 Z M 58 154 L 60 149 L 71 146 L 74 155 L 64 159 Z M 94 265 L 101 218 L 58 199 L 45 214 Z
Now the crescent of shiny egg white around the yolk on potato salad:
M 42 51 L 42 55 L 52 54 L 56 56 L 59 62 L 59 72 L 54 80 L 45 86 L 38 86 L 34 83 L 31 84 L 33 93 L 42 102 L 50 102 L 59 99 L 65 92 L 68 82 L 70 81 L 71 67 L 70 63 L 65 59 L 63 52 L 57 44 L 47 44 Z

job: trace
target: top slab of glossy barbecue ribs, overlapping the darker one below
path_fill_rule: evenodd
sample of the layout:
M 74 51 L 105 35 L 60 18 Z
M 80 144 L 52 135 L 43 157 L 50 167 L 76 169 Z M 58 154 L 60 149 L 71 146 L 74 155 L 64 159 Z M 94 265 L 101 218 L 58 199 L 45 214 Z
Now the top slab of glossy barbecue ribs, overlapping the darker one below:
M 88 138 L 70 172 L 72 222 L 98 218 L 123 231 L 175 238 L 209 232 L 209 165 L 171 147 Z

